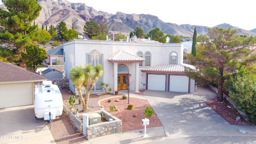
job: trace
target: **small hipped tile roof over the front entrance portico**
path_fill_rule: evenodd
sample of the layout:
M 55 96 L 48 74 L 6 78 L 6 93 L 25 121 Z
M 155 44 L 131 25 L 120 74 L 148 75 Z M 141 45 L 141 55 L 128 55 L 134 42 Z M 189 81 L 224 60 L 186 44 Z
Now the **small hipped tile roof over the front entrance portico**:
M 120 51 L 114 54 L 111 58 L 108 58 L 110 62 L 143 62 L 145 59 L 128 52 Z

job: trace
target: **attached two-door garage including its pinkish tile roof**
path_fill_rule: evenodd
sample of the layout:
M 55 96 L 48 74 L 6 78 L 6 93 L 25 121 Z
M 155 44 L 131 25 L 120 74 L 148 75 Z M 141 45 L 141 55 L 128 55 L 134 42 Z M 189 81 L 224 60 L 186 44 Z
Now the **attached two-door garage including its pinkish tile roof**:
M 186 76 L 184 65 L 160 64 L 142 69 L 141 71 L 142 75 L 146 75 L 147 90 L 194 92 L 194 80 Z

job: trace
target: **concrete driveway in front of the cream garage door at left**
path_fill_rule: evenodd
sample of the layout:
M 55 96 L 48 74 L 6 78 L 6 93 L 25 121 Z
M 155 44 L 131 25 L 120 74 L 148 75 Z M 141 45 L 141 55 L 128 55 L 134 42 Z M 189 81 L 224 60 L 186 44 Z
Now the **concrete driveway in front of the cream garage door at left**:
M 34 105 L 0 108 L 0 144 L 55 144 L 48 126 L 34 116 Z

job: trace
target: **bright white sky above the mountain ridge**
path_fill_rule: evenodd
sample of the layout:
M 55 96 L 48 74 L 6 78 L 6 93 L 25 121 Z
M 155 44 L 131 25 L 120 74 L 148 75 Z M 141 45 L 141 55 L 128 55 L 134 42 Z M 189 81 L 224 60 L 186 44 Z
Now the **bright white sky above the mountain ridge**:
M 256 28 L 256 0 L 68 0 L 97 11 L 151 14 L 163 22 L 213 27 L 227 23 L 244 30 Z

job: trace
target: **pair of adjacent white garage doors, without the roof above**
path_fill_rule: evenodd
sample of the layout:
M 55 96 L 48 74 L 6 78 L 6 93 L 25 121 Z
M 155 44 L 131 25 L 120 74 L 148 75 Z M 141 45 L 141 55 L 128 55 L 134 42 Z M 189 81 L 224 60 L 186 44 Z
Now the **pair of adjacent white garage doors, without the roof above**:
M 182 75 L 147 74 L 147 89 L 189 92 L 190 79 Z

